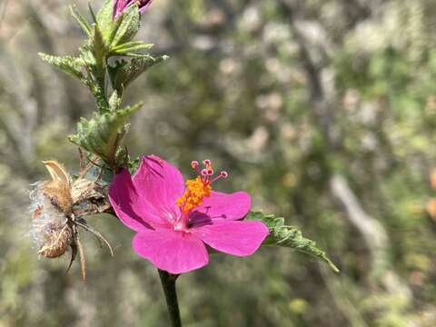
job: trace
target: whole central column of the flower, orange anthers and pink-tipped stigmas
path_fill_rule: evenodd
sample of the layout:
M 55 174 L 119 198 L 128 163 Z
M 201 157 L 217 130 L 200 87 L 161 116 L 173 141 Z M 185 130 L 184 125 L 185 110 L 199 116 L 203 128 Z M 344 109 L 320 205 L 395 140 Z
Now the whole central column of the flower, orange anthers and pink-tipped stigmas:
M 197 177 L 186 181 L 186 189 L 181 197 L 176 200 L 177 205 L 183 213 L 183 225 L 187 223 L 189 213 L 192 213 L 195 208 L 203 203 L 204 197 L 208 197 L 212 192 L 212 183 L 221 179 L 227 178 L 227 172 L 220 172 L 217 175 L 213 173 L 213 167 L 210 160 L 203 160 L 203 169 L 200 168 L 200 163 L 193 161 L 191 166 L 197 172 Z

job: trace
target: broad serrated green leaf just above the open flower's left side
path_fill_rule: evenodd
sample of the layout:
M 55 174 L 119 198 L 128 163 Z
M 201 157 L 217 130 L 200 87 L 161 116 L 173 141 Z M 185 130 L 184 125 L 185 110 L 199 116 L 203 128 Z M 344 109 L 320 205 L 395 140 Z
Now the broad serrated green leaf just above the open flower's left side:
M 127 132 L 128 125 L 125 124 L 125 121 L 141 106 L 142 104 L 136 104 L 109 113 L 94 113 L 90 120 L 82 118 L 77 124 L 77 134 L 70 135 L 69 139 L 89 153 L 100 156 L 105 163 L 113 166 L 116 163 L 116 154 L 121 140 Z

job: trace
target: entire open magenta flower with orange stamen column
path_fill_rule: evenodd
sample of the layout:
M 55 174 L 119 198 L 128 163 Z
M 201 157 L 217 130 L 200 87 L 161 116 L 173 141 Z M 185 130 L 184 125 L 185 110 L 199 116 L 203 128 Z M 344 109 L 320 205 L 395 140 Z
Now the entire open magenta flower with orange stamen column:
M 121 221 L 136 234 L 134 252 L 157 268 L 189 272 L 209 263 L 205 244 L 237 256 L 253 254 L 268 235 L 261 222 L 240 221 L 250 210 L 248 193 L 220 193 L 211 184 L 209 160 L 193 162 L 198 176 L 183 183 L 182 173 L 155 155 L 142 158 L 134 176 L 123 169 L 114 177 L 109 199 Z

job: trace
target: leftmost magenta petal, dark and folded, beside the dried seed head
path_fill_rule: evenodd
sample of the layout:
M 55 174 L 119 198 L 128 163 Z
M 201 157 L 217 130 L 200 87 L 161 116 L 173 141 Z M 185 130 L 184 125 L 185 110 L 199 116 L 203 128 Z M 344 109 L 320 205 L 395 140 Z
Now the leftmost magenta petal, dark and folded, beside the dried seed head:
M 154 207 L 139 196 L 126 169 L 114 176 L 109 188 L 109 201 L 118 218 L 136 232 L 150 229 L 152 226 L 167 225 Z

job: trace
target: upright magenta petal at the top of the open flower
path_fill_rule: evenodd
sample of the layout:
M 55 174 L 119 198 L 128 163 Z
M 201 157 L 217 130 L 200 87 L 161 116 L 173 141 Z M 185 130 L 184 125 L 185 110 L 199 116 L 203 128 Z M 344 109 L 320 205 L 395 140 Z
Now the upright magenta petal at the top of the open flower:
M 184 191 L 183 175 L 172 164 L 156 155 L 144 155 L 133 182 L 144 200 L 152 203 L 159 213 L 177 216 L 175 201 Z

